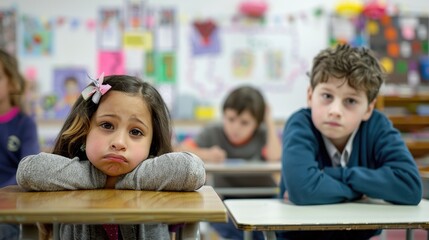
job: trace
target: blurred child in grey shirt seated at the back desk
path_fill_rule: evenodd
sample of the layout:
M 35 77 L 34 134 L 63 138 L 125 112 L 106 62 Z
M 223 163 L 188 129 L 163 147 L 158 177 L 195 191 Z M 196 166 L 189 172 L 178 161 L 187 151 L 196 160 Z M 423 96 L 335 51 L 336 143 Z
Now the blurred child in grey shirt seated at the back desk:
M 226 159 L 236 158 L 247 161 L 280 161 L 280 138 L 259 90 L 251 86 L 234 89 L 227 96 L 222 110 L 223 124 L 214 123 L 204 127 L 194 139 L 186 139 L 178 149 L 193 152 L 207 163 L 221 163 Z M 257 186 L 260 184 L 258 181 L 260 178 L 256 175 L 214 176 L 216 187 Z M 244 184 L 246 186 L 240 186 Z M 212 223 L 211 226 L 223 238 L 243 239 L 243 232 L 237 230 L 231 221 Z M 254 232 L 253 238 L 263 239 L 263 235 L 261 232 Z

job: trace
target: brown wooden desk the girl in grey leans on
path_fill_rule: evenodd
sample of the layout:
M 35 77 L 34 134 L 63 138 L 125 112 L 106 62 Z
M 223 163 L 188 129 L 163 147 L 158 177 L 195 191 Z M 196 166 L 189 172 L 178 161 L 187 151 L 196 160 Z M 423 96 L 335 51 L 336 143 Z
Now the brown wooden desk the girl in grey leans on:
M 195 192 L 76 190 L 25 192 L 0 189 L 0 222 L 76 224 L 187 224 L 184 237 L 198 238 L 198 222 L 226 222 L 227 212 L 210 186 Z

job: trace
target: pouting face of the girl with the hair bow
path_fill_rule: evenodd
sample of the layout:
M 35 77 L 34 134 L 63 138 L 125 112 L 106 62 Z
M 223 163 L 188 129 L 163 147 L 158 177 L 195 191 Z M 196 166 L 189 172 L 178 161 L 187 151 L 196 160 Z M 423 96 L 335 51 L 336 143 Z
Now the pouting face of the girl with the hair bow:
M 119 91 L 109 91 L 99 104 L 86 139 L 89 161 L 108 176 L 129 173 L 149 155 L 153 136 L 149 109 L 141 96 Z

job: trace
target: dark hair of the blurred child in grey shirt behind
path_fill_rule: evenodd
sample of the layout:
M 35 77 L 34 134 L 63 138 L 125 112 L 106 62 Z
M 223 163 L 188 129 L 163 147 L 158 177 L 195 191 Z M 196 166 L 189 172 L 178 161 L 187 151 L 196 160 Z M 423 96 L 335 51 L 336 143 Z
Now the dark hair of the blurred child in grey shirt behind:
M 237 114 L 249 111 L 258 125 L 264 121 L 265 100 L 261 92 L 251 86 L 241 86 L 234 89 L 223 104 L 223 111 L 233 109 Z

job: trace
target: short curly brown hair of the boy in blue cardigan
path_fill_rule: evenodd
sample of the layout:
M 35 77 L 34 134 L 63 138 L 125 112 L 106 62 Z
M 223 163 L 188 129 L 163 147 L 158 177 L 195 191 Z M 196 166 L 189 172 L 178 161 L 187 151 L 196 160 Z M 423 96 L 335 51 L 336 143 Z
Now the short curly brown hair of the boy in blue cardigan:
M 344 79 L 350 87 L 366 93 L 372 102 L 386 79 L 383 67 L 368 48 L 337 45 L 322 50 L 313 60 L 310 73 L 311 88 L 325 83 L 329 78 Z

